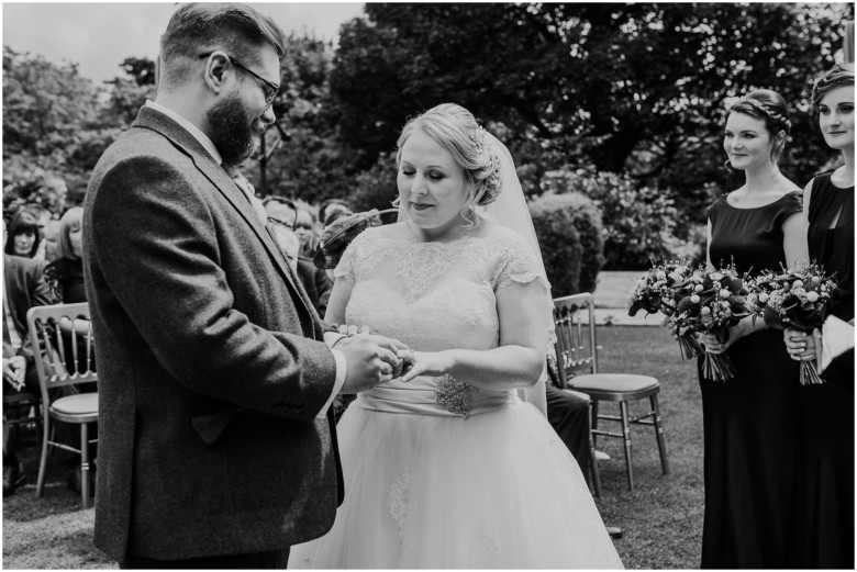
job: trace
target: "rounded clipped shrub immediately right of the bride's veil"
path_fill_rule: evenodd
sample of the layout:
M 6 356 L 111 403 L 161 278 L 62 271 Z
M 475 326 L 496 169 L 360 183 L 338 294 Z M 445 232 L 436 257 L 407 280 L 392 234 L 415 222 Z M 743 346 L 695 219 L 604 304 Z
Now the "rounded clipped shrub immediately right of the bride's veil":
M 530 203 L 554 298 L 591 292 L 603 262 L 601 221 L 579 193 L 546 194 Z

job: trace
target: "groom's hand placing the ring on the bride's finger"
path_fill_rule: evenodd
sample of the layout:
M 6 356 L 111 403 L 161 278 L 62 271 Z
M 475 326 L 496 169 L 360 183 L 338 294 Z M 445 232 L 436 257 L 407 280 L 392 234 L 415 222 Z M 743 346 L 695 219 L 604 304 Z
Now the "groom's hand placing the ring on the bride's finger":
M 402 360 L 397 354 L 407 346 L 383 336 L 358 334 L 343 338 L 336 348 L 342 350 L 347 363 L 345 383 L 340 391 L 357 393 L 400 375 Z

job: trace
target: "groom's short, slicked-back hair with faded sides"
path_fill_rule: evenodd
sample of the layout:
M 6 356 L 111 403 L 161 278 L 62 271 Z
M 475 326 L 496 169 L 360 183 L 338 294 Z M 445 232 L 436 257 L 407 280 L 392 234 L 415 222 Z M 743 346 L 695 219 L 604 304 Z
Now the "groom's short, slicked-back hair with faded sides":
M 286 49 L 282 30 L 267 15 L 246 4 L 192 2 L 172 14 L 160 36 L 160 79 L 165 86 L 190 77 L 202 54 L 226 52 L 242 63 L 259 60 L 259 51 L 270 45 L 281 56 Z

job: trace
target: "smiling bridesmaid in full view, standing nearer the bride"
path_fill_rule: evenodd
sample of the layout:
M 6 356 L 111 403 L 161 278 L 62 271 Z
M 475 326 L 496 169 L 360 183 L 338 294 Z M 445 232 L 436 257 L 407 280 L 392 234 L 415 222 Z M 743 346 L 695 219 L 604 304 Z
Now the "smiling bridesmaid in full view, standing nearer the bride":
M 709 266 L 735 262 L 739 273 L 779 270 L 806 258 L 800 188 L 778 167 L 791 127 L 782 97 L 753 91 L 730 108 L 723 147 L 744 184 L 709 208 Z M 708 351 L 726 352 L 735 378 L 703 379 L 705 517 L 702 568 L 789 568 L 798 364 L 782 333 L 745 318 L 728 341 L 704 336 Z

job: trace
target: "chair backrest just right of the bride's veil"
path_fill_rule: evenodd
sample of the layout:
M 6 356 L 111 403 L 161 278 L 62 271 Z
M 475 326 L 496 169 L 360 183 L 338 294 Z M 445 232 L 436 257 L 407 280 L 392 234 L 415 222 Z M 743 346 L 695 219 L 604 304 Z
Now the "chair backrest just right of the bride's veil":
M 596 301 L 589 292 L 554 299 L 559 386 L 583 373 L 598 373 Z

